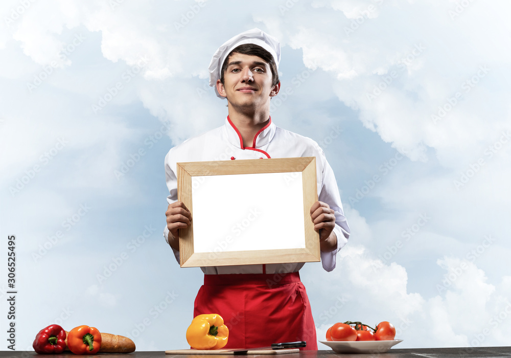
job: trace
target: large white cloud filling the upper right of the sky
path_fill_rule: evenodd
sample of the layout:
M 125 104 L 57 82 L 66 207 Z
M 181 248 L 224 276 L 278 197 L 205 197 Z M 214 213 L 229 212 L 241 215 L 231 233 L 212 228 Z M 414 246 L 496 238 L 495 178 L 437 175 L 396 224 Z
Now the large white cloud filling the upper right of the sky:
M 381 12 L 375 10 L 363 16 L 356 30 L 350 28 L 353 21 L 349 19 L 360 16 L 361 9 L 369 4 Z M 497 80 L 496 72 L 509 71 L 497 64 L 500 59 L 494 55 L 495 51 L 482 55 L 484 52 L 474 50 L 488 46 L 485 37 L 478 36 L 481 32 L 492 33 L 496 38 L 505 36 L 505 32 L 495 28 L 495 19 L 480 4 L 471 4 L 456 23 L 447 16 L 454 8 L 451 4 L 425 7 L 421 2 L 356 5 L 314 2 L 314 6 L 331 6 L 342 10 L 342 15 L 321 12 L 326 18 L 337 18 L 336 24 L 319 28 L 296 24 L 294 31 L 288 22 L 278 24 L 271 18 L 264 22 L 275 26 L 277 32 L 292 33 L 289 44 L 303 49 L 304 63 L 331 72 L 339 80 L 334 86 L 339 99 L 360 110 L 360 119 L 367 128 L 378 131 L 384 141 L 406 152 L 411 159 L 426 160 L 429 146 L 451 163 L 463 158 L 474 144 L 484 145 L 485 138 L 496 134 L 495 127 L 506 126 L 505 101 L 492 107 L 493 125 L 489 126 L 485 101 L 476 100 L 491 100 L 495 94 L 491 84 Z M 406 9 L 406 16 L 402 8 Z M 314 19 L 318 13 L 308 16 Z M 292 12 L 286 14 L 292 15 Z M 397 19 L 399 27 L 392 25 Z M 420 23 L 412 19 L 420 19 Z M 387 30 L 382 32 L 382 28 Z M 406 34 L 398 36 L 396 31 L 404 28 Z M 346 33 L 346 29 L 353 31 Z M 501 49 L 499 46 L 498 50 Z M 505 58 L 510 55 L 501 51 L 499 54 Z M 431 115 L 438 111 L 438 106 L 449 105 L 448 99 L 456 92 L 461 93 L 462 99 L 457 100 L 444 119 L 433 123 Z M 368 98 L 369 95 L 376 98 Z

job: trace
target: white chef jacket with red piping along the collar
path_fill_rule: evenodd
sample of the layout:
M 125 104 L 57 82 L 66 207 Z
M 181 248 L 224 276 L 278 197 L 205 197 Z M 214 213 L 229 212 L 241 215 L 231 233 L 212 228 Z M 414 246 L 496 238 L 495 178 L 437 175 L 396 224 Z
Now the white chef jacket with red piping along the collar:
M 170 149 L 165 157 L 165 174 L 170 195 L 169 204 L 177 200 L 177 165 L 178 162 L 203 162 L 236 159 L 261 158 L 296 158 L 301 156 L 316 157 L 318 200 L 327 203 L 335 211 L 334 233 L 337 236 L 337 249 L 331 252 L 320 252 L 323 269 L 332 271 L 335 268 L 337 252 L 346 244 L 350 236 L 350 228 L 342 210 L 339 189 L 334 172 L 328 164 L 323 150 L 310 138 L 300 136 L 277 127 L 270 122 L 255 135 L 252 147 L 244 147 L 241 135 L 236 126 L 225 119 L 225 124 L 210 130 L 203 135 L 190 138 L 180 145 Z M 168 239 L 169 229 L 164 230 Z M 179 251 L 174 250 L 174 256 L 179 262 Z M 304 265 L 299 263 L 266 264 L 265 273 L 297 272 Z M 204 274 L 262 274 L 263 265 L 231 265 L 201 267 Z

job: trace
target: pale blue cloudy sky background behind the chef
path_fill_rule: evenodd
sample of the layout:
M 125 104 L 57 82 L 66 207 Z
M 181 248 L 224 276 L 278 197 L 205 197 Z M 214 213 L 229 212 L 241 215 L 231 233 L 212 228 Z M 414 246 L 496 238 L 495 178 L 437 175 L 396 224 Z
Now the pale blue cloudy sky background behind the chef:
M 164 158 L 223 124 L 207 65 L 254 27 L 281 40 L 292 91 L 272 119 L 323 147 L 352 229 L 332 273 L 300 271 L 318 337 L 388 320 L 399 347 L 509 345 L 509 6 L 3 2 L 0 308 L 15 235 L 16 348 L 50 323 L 187 347 L 202 273 L 162 237 Z

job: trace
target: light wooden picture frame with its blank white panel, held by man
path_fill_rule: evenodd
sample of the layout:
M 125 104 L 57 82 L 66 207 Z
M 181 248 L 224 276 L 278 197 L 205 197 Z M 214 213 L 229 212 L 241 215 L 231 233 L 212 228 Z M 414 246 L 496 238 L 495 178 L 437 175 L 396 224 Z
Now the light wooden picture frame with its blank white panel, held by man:
M 320 261 L 315 157 L 177 163 L 177 181 L 181 267 Z

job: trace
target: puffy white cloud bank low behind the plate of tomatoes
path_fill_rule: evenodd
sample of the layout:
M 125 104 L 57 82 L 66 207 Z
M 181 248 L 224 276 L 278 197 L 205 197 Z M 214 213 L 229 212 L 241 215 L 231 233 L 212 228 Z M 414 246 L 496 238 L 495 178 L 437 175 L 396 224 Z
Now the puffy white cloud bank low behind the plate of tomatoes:
M 498 332 L 511 325 L 511 304 L 508 296 L 503 296 L 507 293 L 487 283 L 484 272 L 474 263 L 454 257 L 439 259 L 445 270 L 436 284 L 439 294 L 426 300 L 408 292 L 404 267 L 395 262 L 382 264 L 362 247 L 351 245 L 342 251 L 337 257 L 338 271 L 322 282 L 342 286 L 347 299 L 343 305 L 334 303 L 327 308 L 319 316 L 322 322 L 316 320 L 320 339 L 336 322 L 361 320 L 371 325 L 375 320 L 388 320 L 397 328 L 397 339 L 408 341 L 411 347 L 505 345 L 506 338 Z M 334 306 L 338 309 L 332 309 Z M 482 333 L 483 329 L 491 335 Z

